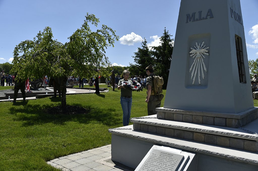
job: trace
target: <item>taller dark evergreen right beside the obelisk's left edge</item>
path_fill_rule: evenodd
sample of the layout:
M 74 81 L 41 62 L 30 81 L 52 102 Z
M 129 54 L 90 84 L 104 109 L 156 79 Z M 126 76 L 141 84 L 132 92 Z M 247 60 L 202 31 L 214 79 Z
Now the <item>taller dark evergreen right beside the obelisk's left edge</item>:
M 161 45 L 157 47 L 152 47 L 154 50 L 152 53 L 156 59 L 154 64 L 155 74 L 162 76 L 164 79 L 163 87 L 167 87 L 168 74 L 170 70 L 171 56 L 173 52 L 173 42 L 171 36 L 166 27 L 164 29 L 163 36 L 160 37 Z

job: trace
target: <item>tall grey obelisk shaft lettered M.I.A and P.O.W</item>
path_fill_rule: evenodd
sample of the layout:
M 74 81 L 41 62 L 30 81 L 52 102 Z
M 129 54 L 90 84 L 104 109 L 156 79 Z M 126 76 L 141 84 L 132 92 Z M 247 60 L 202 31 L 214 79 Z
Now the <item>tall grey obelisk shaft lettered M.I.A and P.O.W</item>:
M 181 1 L 164 109 L 230 127 L 256 111 L 239 1 Z

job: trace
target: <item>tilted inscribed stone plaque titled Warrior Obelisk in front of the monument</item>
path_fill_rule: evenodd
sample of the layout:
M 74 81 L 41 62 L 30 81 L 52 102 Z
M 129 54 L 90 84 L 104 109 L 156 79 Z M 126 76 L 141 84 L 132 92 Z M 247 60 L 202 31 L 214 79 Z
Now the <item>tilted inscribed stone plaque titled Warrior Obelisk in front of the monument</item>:
M 180 154 L 181 150 L 175 152 L 165 148 L 152 147 L 135 171 L 178 171 L 184 161 L 184 155 Z

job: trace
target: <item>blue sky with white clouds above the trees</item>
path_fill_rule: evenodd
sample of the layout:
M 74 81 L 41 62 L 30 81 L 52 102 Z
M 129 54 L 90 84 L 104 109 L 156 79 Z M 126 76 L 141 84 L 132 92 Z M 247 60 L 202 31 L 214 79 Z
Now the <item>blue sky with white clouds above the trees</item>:
M 258 58 L 258 1 L 240 0 L 248 59 Z M 121 38 L 106 55 L 114 65 L 134 63 L 132 56 L 147 42 L 158 45 L 164 27 L 175 36 L 180 0 L 0 0 L 0 63 L 12 62 L 21 41 L 33 39 L 39 30 L 52 28 L 54 39 L 65 43 L 80 28 L 86 13 L 116 30 Z M 92 28 L 92 30 L 94 30 Z

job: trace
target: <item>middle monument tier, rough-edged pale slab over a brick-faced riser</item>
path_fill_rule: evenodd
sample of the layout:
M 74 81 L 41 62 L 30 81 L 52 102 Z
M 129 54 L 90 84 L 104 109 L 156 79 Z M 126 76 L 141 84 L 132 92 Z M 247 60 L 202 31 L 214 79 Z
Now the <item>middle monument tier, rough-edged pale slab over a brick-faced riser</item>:
M 248 127 L 249 125 L 247 124 L 241 128 L 232 128 L 146 117 L 131 118 L 131 122 L 134 123 L 133 129 L 201 143 L 258 152 L 258 135 L 255 134 L 255 132 L 258 132 L 257 126 Z M 258 119 L 253 121 L 252 124 L 255 123 L 258 124 Z

